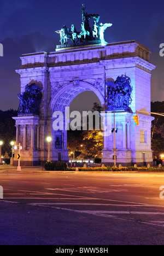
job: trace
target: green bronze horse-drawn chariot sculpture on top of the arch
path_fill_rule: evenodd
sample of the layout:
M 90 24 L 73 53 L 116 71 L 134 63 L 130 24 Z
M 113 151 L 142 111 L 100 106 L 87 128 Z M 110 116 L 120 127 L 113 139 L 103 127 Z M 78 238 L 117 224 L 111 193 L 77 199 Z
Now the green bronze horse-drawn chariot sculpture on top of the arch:
M 85 4 L 82 4 L 82 23 L 80 32 L 78 32 L 74 25 L 71 28 L 63 26 L 61 30 L 55 31 L 60 34 L 61 44 L 68 44 L 68 39 L 71 39 L 73 43 L 77 42 L 91 42 L 94 40 L 104 41 L 104 31 L 107 27 L 112 26 L 111 23 L 98 24 L 100 16 L 98 14 L 87 14 L 85 13 Z M 93 26 L 90 27 L 89 20 L 96 19 L 93 21 Z

